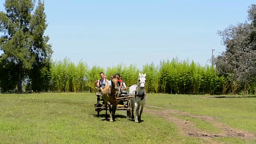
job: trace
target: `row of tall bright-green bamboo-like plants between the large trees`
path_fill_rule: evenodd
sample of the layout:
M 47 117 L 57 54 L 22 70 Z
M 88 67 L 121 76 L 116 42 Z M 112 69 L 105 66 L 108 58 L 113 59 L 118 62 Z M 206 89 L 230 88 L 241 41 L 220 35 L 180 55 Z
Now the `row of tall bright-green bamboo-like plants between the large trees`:
M 15 91 L 18 84 L 15 70 L 2 72 L 6 74 L 0 77 L 1 92 Z M 33 92 L 94 92 L 94 82 L 100 78 L 100 72 L 104 72 L 108 79 L 111 75 L 120 73 L 126 86 L 138 83 L 139 72 L 146 73 L 146 90 L 150 93 L 234 94 L 243 92 L 243 87 L 237 88 L 228 80 L 228 77 L 220 76 L 214 66 L 201 66 L 194 61 L 179 61 L 178 58 L 171 61 L 163 60 L 160 65 L 144 64 L 142 70 L 134 65 L 125 66 L 124 64 L 108 67 L 106 70 L 100 66 L 90 68 L 85 62 L 80 61 L 74 64 L 70 59 L 65 58 L 52 62 L 48 69 L 43 69 L 40 75 L 37 75 L 37 81 L 24 77 L 22 89 Z M 248 92 L 255 93 L 255 84 L 248 86 Z

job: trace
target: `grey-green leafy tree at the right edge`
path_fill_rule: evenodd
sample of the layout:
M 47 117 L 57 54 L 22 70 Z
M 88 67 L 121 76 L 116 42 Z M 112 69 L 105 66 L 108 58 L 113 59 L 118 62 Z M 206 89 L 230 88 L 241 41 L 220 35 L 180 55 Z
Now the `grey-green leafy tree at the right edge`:
M 248 20 L 230 25 L 218 31 L 226 51 L 216 57 L 215 63 L 220 74 L 226 75 L 235 90 L 251 83 L 256 77 L 256 5 L 248 7 Z

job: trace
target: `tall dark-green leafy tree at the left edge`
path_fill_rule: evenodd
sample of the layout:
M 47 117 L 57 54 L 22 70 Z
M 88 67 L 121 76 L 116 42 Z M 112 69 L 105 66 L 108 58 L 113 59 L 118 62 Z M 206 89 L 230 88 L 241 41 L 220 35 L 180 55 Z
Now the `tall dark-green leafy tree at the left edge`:
M 0 50 L 4 52 L 1 61 L 18 65 L 18 92 L 22 91 L 25 72 L 34 68 L 33 71 L 40 74 L 40 70 L 49 65 L 52 54 L 51 45 L 47 44 L 49 37 L 44 36 L 47 27 L 44 2 L 39 0 L 38 5 L 35 4 L 35 0 L 5 0 L 6 13 L 0 12 L 0 32 L 3 33 Z

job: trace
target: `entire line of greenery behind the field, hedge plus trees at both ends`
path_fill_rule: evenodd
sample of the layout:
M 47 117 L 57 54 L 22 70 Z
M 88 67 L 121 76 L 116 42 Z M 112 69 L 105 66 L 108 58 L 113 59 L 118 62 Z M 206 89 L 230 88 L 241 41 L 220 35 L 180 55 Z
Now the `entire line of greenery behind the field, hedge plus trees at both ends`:
M 44 35 L 48 26 L 44 2 L 4 2 L 0 11 L 1 92 L 93 92 L 94 82 L 104 72 L 121 74 L 127 86 L 137 84 L 146 73 L 147 92 L 168 94 L 240 94 L 256 92 L 256 4 L 248 8 L 248 22 L 218 31 L 226 50 L 212 59 L 215 66 L 201 66 L 177 58 L 159 65 L 117 66 L 104 70 L 68 58 L 52 62 L 52 45 Z M 22 9 L 21 9 L 22 8 Z M 217 67 L 216 67 L 217 66 Z

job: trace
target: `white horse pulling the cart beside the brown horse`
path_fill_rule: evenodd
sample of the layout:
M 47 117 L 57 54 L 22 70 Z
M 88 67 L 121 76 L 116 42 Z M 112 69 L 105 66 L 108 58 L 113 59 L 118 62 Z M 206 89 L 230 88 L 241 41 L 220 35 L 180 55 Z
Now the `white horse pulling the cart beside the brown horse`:
M 131 100 L 131 106 L 132 106 L 132 119 L 134 120 L 134 114 L 133 114 L 133 109 L 135 107 L 135 112 L 136 112 L 136 118 L 134 122 L 139 122 L 141 120 L 141 114 L 143 112 L 143 108 L 146 104 L 146 73 L 145 74 L 139 74 L 138 78 L 138 84 L 134 84 L 130 86 L 129 88 L 129 96 L 135 96 L 134 98 L 130 98 Z M 141 110 L 139 113 L 141 105 Z

